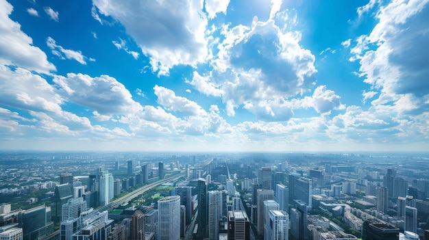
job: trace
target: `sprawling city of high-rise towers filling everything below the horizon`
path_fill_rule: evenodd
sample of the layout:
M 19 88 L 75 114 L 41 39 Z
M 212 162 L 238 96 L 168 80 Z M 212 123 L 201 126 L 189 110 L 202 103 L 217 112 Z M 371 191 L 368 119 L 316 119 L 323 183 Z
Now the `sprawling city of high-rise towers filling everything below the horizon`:
M 427 239 L 423 153 L 2 152 L 1 239 Z

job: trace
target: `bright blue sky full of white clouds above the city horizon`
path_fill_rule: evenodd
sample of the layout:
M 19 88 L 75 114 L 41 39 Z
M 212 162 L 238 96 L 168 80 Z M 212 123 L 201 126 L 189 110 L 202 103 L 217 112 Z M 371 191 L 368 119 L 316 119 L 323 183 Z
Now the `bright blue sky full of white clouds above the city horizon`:
M 429 0 L 0 0 L 0 150 L 427 151 Z

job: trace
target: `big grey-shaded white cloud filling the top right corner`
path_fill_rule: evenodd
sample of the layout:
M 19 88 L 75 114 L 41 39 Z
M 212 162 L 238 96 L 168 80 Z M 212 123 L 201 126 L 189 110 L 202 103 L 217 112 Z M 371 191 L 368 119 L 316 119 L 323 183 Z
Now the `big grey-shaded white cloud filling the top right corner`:
M 380 90 L 378 103 L 387 103 L 381 101 L 387 97 L 395 102 L 404 94 L 428 94 L 428 1 L 392 1 L 380 7 L 376 18 L 376 26 L 358 38 L 352 53 L 365 83 Z

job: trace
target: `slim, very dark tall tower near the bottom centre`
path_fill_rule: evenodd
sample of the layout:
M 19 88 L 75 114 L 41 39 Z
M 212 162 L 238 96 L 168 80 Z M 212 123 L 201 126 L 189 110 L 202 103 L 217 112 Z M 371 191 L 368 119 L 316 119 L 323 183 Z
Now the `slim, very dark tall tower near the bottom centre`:
M 208 235 L 207 222 L 207 186 L 204 178 L 197 180 L 197 195 L 198 195 L 198 230 L 197 238 L 205 238 Z

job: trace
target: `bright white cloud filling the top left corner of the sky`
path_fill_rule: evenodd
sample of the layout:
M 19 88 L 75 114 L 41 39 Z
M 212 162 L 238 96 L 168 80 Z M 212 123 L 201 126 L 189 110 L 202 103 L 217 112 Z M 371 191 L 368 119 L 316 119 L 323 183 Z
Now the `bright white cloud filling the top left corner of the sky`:
M 0 64 L 19 66 L 36 72 L 49 73 L 56 70 L 47 61 L 47 55 L 23 31 L 21 25 L 12 21 L 9 15 L 13 7 L 5 0 L 0 0 Z

